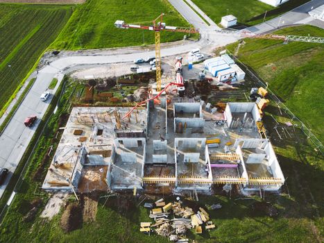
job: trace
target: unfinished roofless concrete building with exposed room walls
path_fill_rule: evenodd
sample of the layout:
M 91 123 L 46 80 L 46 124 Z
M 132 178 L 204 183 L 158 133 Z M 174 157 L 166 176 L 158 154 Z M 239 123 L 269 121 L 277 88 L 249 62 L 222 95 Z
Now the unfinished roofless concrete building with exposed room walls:
M 278 191 L 284 176 L 256 103 L 166 95 L 146 108 L 73 108 L 44 190 Z M 128 115 L 129 114 L 129 115 Z

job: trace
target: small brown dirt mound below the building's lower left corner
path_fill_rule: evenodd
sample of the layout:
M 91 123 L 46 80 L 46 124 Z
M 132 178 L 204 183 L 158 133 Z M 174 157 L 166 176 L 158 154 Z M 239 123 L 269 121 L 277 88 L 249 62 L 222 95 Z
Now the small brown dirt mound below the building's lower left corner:
M 82 207 L 78 203 L 69 203 L 65 208 L 61 220 L 60 226 L 63 231 L 74 231 L 82 226 Z

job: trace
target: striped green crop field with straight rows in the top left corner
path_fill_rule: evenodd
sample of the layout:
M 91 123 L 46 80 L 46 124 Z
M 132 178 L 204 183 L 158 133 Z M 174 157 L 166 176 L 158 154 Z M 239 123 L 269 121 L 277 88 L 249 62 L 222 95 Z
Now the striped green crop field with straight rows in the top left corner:
M 70 6 L 0 4 L 0 110 L 71 12 Z

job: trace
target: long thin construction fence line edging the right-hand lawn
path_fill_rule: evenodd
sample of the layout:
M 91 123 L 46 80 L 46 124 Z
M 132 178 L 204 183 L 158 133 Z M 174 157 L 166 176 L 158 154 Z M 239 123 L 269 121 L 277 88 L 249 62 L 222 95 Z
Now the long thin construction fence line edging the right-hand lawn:
M 268 91 L 268 95 L 269 97 L 275 101 L 276 105 L 280 108 L 280 112 L 284 112 L 284 114 L 286 114 L 290 119 L 291 122 L 297 126 L 298 128 L 300 128 L 300 130 L 305 133 L 305 135 L 307 136 L 307 139 L 309 141 L 312 142 L 312 144 L 314 144 L 314 147 L 317 151 L 320 151 L 322 154 L 324 153 L 324 146 L 321 143 L 320 140 L 318 140 L 318 138 L 312 133 L 312 131 L 310 131 L 310 129 L 305 126 L 305 124 L 300 121 L 300 119 L 298 119 L 298 117 L 296 117 L 296 115 L 293 115 L 293 112 L 291 112 L 291 110 L 289 110 L 289 108 L 287 108 L 286 105 L 284 105 L 284 103 L 282 103 L 282 101 L 280 101 L 280 99 L 275 95 L 275 93 L 270 90 L 268 88 L 268 85 L 266 84 L 266 82 L 262 81 L 261 78 L 259 78 L 254 72 L 253 70 L 250 70 L 246 65 L 244 65 L 243 62 L 241 62 L 236 56 L 234 56 L 230 51 L 228 51 L 228 54 L 230 55 L 230 57 L 235 60 L 235 62 L 239 63 L 239 66 L 241 67 L 241 69 L 244 70 L 244 72 L 246 72 L 246 74 L 248 74 L 248 76 L 250 76 L 250 78 L 252 78 L 253 81 L 255 81 L 255 83 L 257 83 L 257 85 L 260 85 L 261 87 L 266 88 L 266 90 Z

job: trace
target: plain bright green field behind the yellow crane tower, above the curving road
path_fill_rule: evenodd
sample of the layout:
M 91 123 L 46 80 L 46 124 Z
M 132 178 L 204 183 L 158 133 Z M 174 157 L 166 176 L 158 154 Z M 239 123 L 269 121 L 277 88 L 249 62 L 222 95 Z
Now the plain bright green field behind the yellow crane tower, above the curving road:
M 153 31 L 117 29 L 117 19 L 133 24 L 151 25 L 152 20 L 165 13 L 163 22 L 173 26 L 188 23 L 167 0 L 89 0 L 78 5 L 74 14 L 52 49 L 98 49 L 153 44 Z M 161 34 L 162 42 L 182 40 L 182 33 Z

